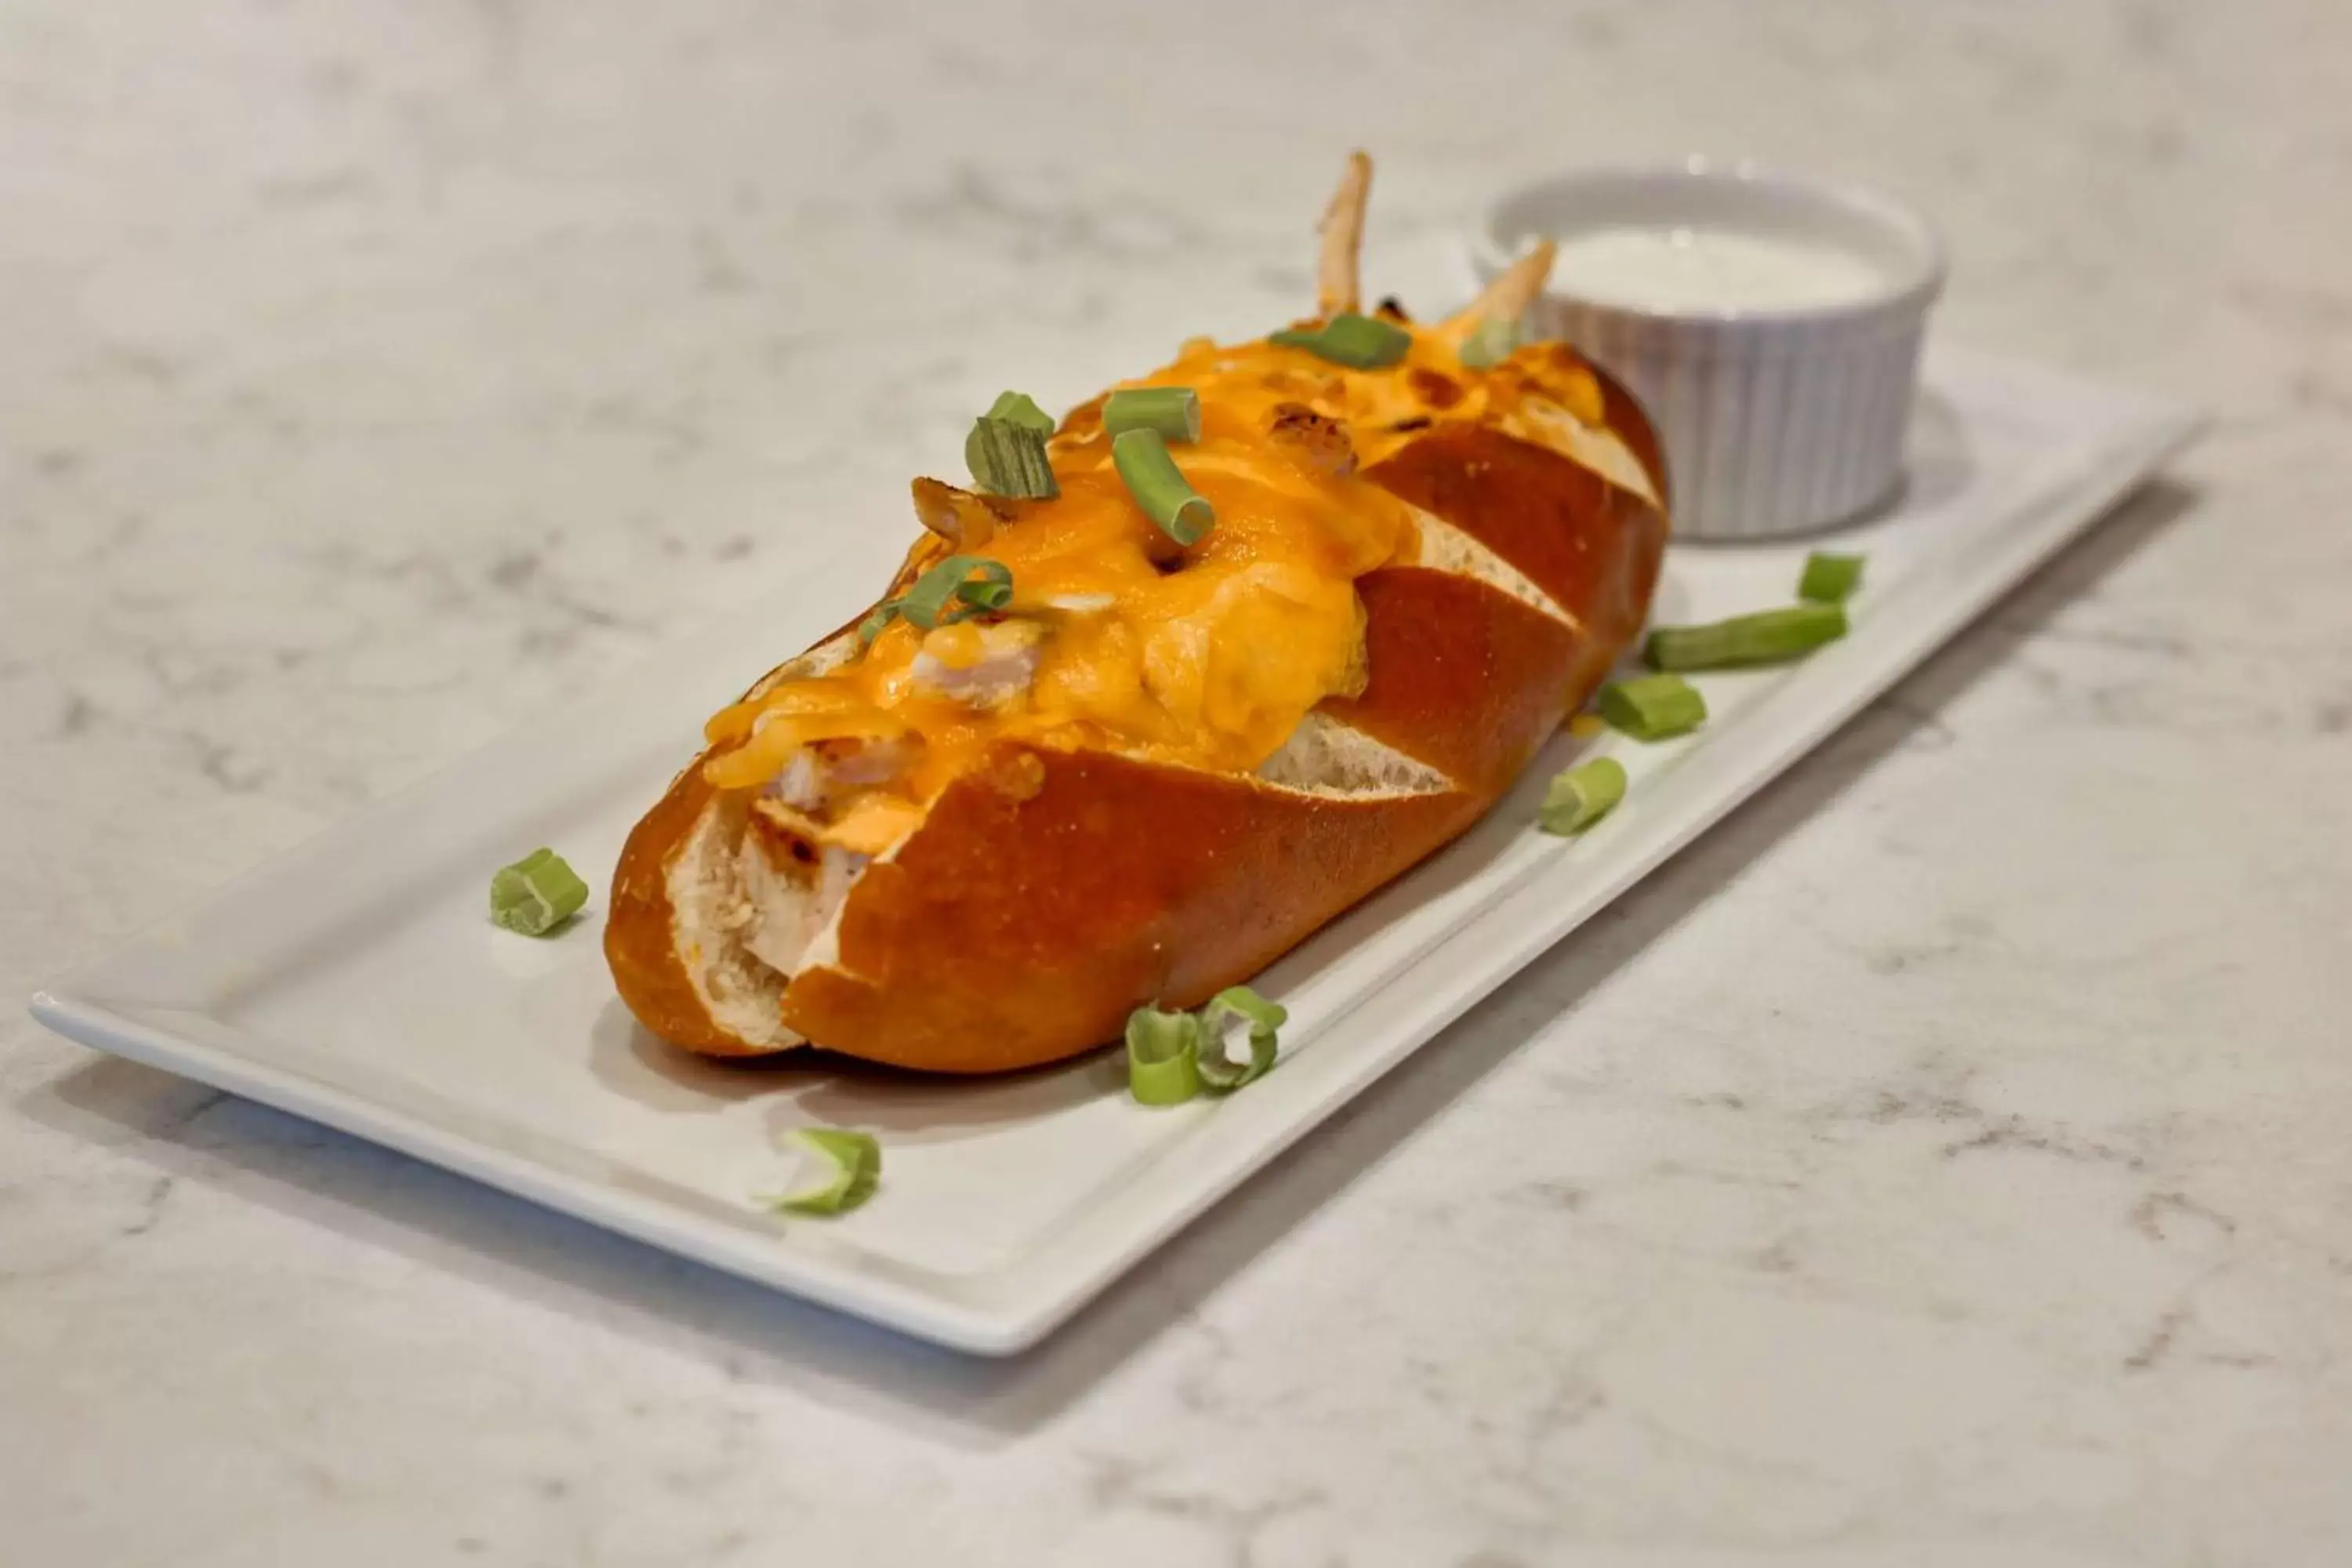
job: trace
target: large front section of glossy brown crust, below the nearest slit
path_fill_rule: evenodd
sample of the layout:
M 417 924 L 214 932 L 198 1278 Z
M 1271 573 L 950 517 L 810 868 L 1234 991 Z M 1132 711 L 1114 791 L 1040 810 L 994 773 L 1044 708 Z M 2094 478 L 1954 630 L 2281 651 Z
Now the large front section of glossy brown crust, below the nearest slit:
M 967 776 L 866 870 L 840 969 L 783 1023 L 880 1063 L 1007 1072 L 1197 1006 L 1470 825 L 1463 792 L 1312 799 L 1103 752 L 1037 752 L 1016 799 Z M 847 971 L 847 973 L 844 973 Z

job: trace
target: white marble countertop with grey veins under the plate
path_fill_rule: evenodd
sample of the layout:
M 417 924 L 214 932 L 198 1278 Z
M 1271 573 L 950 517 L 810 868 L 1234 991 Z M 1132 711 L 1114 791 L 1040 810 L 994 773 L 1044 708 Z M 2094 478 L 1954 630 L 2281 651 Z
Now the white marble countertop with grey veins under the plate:
M 0 994 L 1291 310 L 1352 141 L 1376 284 L 1750 150 L 2218 425 L 1016 1363 L 0 1016 L 0 1561 L 2352 1559 L 2333 0 L 9 0 Z

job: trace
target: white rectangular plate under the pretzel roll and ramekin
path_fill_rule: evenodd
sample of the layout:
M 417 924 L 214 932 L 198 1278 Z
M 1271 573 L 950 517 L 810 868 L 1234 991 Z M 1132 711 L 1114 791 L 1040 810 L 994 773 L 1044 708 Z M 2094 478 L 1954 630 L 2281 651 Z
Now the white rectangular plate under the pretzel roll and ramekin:
M 866 599 L 811 562 L 779 602 L 659 656 L 343 823 L 202 910 L 33 999 L 49 1027 L 407 1150 L 661 1248 L 974 1352 L 1033 1345 L 1512 971 L 1816 745 L 2138 484 L 2194 416 L 2051 371 L 1940 353 L 1853 635 L 1708 677 L 1712 722 L 1642 748 L 1625 804 L 1538 835 L 1562 738 L 1479 827 L 1282 959 L 1282 1067 L 1178 1110 L 1110 1056 L 1004 1081 L 720 1067 L 652 1041 L 612 994 L 600 912 L 557 940 L 496 931 L 489 870 L 557 846 L 602 886 L 699 722 Z M 1677 545 L 1661 621 L 1785 602 L 1806 545 Z M 776 1135 L 866 1126 L 882 1192 L 779 1220 Z

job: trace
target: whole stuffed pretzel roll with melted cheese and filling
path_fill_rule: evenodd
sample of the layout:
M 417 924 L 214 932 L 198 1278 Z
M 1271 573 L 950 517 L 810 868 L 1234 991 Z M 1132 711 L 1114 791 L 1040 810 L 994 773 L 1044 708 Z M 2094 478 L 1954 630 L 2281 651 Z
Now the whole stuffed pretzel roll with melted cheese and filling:
M 1590 696 L 1649 609 L 1658 444 L 1566 346 L 1512 348 L 1548 249 L 1446 322 L 1357 315 L 1367 181 L 1317 317 L 1122 386 L 1190 409 L 1160 451 L 1127 440 L 1152 400 L 1098 397 L 1023 496 L 917 480 L 889 597 L 710 722 L 614 877 L 649 1030 L 938 1072 L 1087 1051 L 1454 839 Z

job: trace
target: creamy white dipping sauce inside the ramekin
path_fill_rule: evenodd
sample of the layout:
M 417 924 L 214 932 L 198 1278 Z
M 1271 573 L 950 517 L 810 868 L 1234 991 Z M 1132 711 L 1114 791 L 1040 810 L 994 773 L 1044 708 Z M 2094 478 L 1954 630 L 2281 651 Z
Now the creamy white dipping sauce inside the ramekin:
M 1736 228 L 1597 228 L 1559 242 L 1552 287 L 1632 310 L 1813 310 L 1886 287 L 1867 259 L 1820 240 Z

